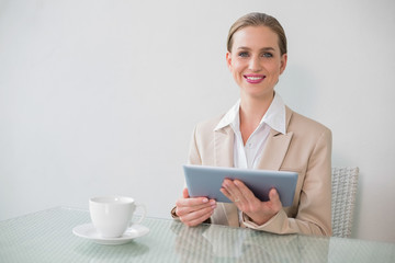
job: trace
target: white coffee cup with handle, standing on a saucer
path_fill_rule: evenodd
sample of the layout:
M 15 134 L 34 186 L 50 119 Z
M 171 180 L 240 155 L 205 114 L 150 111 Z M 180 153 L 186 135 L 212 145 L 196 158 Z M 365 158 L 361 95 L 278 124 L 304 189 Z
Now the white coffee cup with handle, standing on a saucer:
M 136 207 L 144 208 L 138 221 L 132 222 Z M 94 228 L 103 238 L 121 237 L 133 224 L 140 224 L 146 215 L 144 205 L 127 196 L 99 196 L 89 199 L 89 211 Z

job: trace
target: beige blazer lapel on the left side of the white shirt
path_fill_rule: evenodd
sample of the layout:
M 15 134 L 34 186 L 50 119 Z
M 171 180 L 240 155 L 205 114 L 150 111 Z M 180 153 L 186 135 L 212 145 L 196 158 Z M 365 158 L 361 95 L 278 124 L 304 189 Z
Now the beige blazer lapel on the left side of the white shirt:
M 235 135 L 230 126 L 214 132 L 214 163 L 216 167 L 234 167 Z

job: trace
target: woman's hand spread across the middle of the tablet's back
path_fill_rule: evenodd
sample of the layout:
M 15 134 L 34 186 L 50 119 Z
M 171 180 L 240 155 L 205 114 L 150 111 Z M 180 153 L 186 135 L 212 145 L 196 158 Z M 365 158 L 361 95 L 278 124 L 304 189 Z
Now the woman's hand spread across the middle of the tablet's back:
M 270 190 L 268 202 L 261 202 L 241 181 L 225 179 L 221 192 L 257 225 L 266 224 L 282 209 L 275 188 Z

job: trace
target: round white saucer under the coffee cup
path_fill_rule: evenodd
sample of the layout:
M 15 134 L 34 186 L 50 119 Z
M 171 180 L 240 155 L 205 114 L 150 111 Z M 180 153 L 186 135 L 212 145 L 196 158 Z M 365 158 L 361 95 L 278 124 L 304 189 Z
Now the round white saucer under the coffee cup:
M 83 224 L 72 229 L 74 235 L 89 239 L 100 244 L 124 244 L 135 238 L 143 237 L 149 232 L 149 228 L 142 225 L 133 225 L 119 238 L 103 238 L 99 235 L 92 224 Z

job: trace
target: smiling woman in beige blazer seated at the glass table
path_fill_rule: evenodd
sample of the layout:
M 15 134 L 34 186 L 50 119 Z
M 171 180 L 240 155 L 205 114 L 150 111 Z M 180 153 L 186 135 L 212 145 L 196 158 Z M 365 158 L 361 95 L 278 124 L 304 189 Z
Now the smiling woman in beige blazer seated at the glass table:
M 226 61 L 240 100 L 225 115 L 195 127 L 191 164 L 284 170 L 298 173 L 291 207 L 275 188 L 261 202 L 239 180 L 225 180 L 233 203 L 190 198 L 184 188 L 172 210 L 188 226 L 211 221 L 274 233 L 331 235 L 331 133 L 290 110 L 274 87 L 287 61 L 285 33 L 263 13 L 250 13 L 230 27 Z

